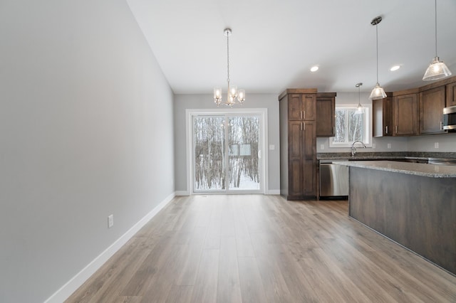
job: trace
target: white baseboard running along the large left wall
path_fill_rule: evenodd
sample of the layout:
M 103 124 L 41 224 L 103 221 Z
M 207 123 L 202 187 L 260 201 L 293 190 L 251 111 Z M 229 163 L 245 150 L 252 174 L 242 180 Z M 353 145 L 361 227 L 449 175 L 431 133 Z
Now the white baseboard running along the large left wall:
M 124 233 L 118 240 L 116 240 L 112 245 L 110 245 L 108 248 L 106 248 L 105 251 L 103 251 L 98 257 L 95 257 L 95 259 L 90 262 L 86 267 L 84 267 L 76 276 L 71 278 L 68 282 L 66 282 L 65 285 L 63 285 L 60 289 L 58 289 L 57 292 L 55 292 L 51 297 L 49 297 L 45 303 L 60 303 L 68 299 L 68 297 L 73 294 L 73 292 L 76 291 L 81 285 L 83 285 L 88 278 L 93 275 L 100 267 L 103 265 L 110 257 L 112 257 L 115 252 L 117 252 L 125 243 L 127 243 L 130 238 L 135 235 L 135 233 L 138 233 L 138 231 L 144 226 L 147 222 L 150 221 L 159 211 L 164 208 L 167 203 L 170 203 L 172 198 L 176 196 L 176 193 L 170 194 L 170 196 L 167 196 L 165 200 L 160 202 L 150 213 L 147 213 L 147 215 L 142 218 L 141 220 L 138 221 L 135 225 L 133 225 L 130 230 L 128 230 L 126 233 Z

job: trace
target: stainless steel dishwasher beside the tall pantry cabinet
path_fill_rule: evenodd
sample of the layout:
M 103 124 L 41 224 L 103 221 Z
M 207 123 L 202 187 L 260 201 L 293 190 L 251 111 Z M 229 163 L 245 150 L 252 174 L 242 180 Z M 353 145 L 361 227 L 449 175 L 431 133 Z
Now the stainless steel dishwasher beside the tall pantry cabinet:
M 334 164 L 336 161 L 320 160 L 320 197 L 348 197 L 348 166 Z

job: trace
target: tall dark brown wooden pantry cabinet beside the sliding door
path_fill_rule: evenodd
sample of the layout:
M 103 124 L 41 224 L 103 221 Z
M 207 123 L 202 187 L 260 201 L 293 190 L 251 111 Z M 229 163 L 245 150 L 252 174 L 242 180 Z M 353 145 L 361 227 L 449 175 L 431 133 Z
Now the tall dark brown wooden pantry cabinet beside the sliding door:
M 316 89 L 279 95 L 280 194 L 287 200 L 316 198 Z

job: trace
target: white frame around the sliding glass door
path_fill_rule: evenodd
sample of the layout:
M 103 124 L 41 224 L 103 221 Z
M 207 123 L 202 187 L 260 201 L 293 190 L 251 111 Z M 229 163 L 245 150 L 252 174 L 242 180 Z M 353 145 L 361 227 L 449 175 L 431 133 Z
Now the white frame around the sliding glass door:
M 267 108 L 230 108 L 230 109 L 191 109 L 185 110 L 185 146 L 186 146 L 186 157 L 187 157 L 187 193 L 190 195 L 209 195 L 209 194 L 242 194 L 248 193 L 247 191 L 228 191 L 228 192 L 216 192 L 216 193 L 195 193 L 193 191 L 193 134 L 192 134 L 192 117 L 198 115 L 259 115 L 261 117 L 262 125 L 260 125 L 259 137 L 261 141 L 261 171 L 260 171 L 260 193 L 267 193 L 268 188 L 268 169 L 266 164 L 268 163 L 268 121 L 267 121 Z M 258 193 L 256 191 L 256 193 Z

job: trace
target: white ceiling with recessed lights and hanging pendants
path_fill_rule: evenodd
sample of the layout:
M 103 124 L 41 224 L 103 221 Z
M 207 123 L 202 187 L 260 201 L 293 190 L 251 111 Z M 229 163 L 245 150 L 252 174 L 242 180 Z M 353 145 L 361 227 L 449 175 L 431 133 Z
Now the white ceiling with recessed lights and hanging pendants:
M 425 85 L 435 56 L 434 0 L 127 0 L 176 94 L 232 84 L 249 93 L 286 88 L 386 91 Z M 437 0 L 437 54 L 456 75 L 456 0 Z M 320 69 L 311 73 L 312 65 Z M 389 69 L 401 65 L 395 72 Z

